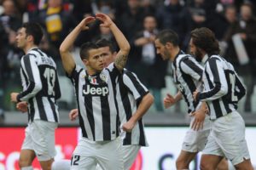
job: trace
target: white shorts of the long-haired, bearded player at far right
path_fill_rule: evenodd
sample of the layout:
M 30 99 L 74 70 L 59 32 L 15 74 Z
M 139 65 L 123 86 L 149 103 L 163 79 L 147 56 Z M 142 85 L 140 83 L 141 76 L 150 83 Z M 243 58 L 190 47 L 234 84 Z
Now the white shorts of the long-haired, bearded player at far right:
M 250 158 L 245 140 L 245 123 L 237 111 L 212 122 L 212 131 L 203 154 L 224 156 L 233 165 Z

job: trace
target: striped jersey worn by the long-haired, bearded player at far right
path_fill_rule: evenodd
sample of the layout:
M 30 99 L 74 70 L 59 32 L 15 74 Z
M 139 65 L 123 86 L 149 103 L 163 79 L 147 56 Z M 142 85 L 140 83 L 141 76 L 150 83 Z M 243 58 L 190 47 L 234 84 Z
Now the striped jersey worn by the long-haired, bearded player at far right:
M 207 101 L 212 120 L 236 111 L 238 101 L 246 94 L 233 65 L 219 55 L 207 60 L 202 81 L 205 89 L 197 99 Z

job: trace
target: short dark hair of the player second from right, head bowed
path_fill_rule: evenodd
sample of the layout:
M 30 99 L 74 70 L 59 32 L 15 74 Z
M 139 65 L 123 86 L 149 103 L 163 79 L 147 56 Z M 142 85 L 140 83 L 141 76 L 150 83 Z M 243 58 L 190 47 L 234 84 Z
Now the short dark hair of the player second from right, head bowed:
M 177 33 L 169 29 L 160 31 L 156 36 L 156 39 L 159 39 L 159 41 L 164 45 L 166 45 L 166 42 L 171 42 L 174 46 L 178 46 Z

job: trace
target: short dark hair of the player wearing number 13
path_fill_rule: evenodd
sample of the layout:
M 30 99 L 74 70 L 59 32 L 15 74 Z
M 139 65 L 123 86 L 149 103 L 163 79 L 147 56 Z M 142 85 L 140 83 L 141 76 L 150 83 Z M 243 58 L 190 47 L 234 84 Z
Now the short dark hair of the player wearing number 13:
M 34 38 L 34 44 L 39 45 L 44 36 L 42 27 L 36 22 L 26 22 L 22 25 L 22 28 L 26 29 L 26 35 Z

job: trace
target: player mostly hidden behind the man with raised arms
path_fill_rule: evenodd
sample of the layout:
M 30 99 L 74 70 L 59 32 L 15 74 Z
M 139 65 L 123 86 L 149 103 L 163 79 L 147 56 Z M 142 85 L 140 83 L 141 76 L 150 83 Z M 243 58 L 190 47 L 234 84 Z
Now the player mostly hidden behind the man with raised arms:
M 113 44 L 102 39 L 96 42 L 96 45 L 102 50 L 105 66 L 110 65 L 116 54 Z M 131 168 L 141 146 L 148 145 L 142 117 L 153 104 L 154 97 L 133 72 L 124 70 L 119 77 L 116 98 L 119 106 L 121 129 L 125 131 L 122 150 L 126 170 Z M 70 111 L 69 117 L 72 121 L 76 116 L 78 116 L 78 110 Z M 97 167 L 97 169 L 100 168 Z

